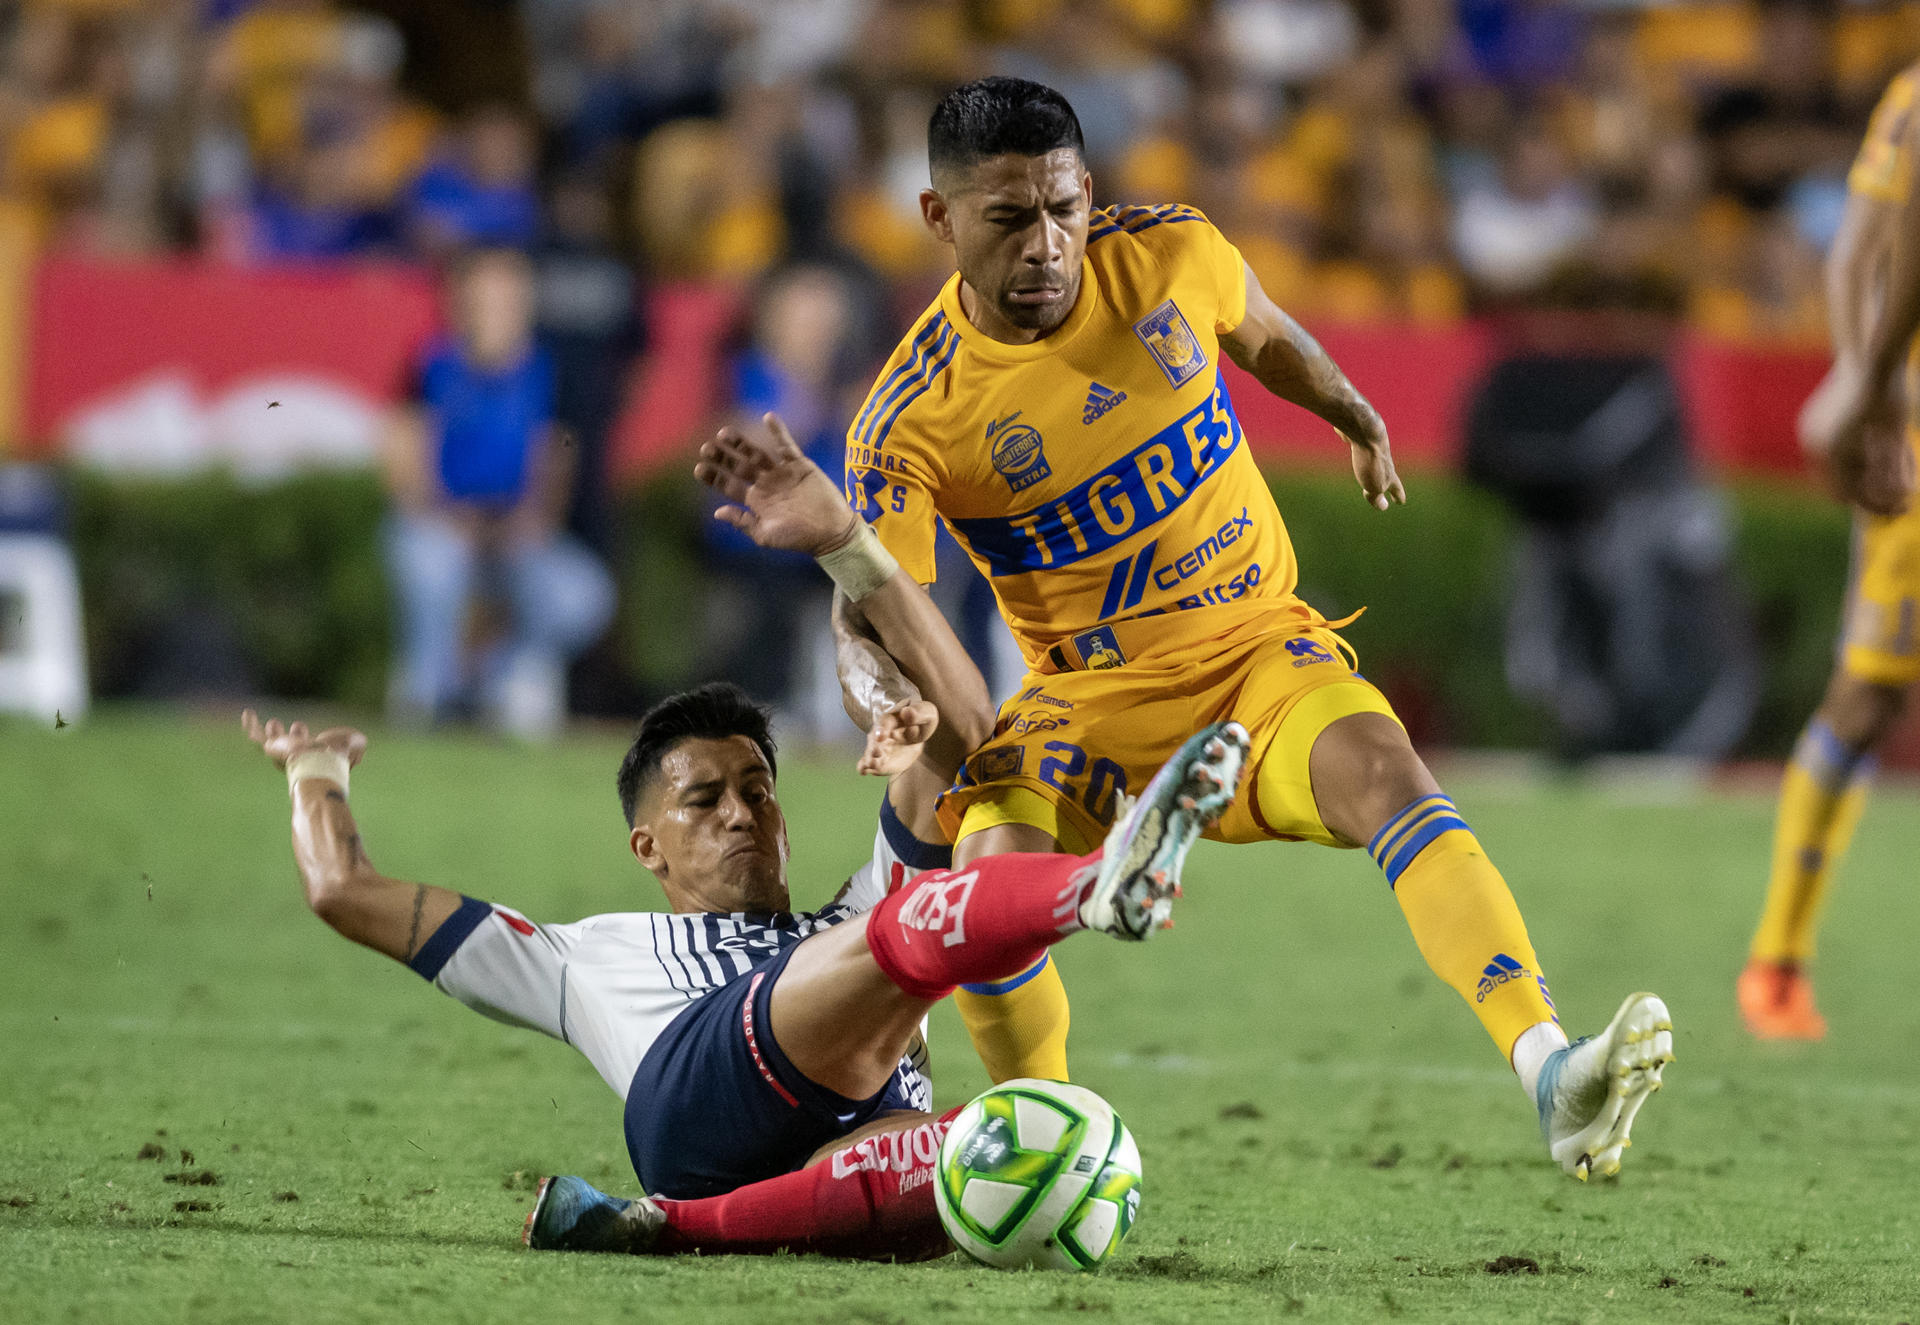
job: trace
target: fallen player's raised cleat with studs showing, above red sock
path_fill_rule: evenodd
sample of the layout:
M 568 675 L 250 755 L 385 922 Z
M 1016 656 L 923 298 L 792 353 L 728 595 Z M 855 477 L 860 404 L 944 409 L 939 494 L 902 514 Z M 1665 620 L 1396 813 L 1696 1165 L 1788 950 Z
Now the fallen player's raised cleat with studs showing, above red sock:
M 1181 745 L 1139 801 L 1121 807 L 1079 904 L 1085 928 L 1146 939 L 1173 924 L 1181 866 L 1194 839 L 1233 805 L 1246 747 L 1246 728 L 1215 722 Z

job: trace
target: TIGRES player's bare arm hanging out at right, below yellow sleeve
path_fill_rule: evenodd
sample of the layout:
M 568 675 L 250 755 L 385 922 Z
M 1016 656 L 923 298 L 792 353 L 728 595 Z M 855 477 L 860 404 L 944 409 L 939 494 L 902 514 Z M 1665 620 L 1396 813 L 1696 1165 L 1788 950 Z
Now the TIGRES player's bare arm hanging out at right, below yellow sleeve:
M 1394 472 L 1394 451 L 1379 411 L 1346 380 L 1321 344 L 1267 298 L 1252 267 L 1246 267 L 1246 317 L 1219 344 L 1269 392 L 1319 415 L 1346 438 L 1354 451 L 1354 478 L 1373 507 L 1405 505 L 1407 490 Z

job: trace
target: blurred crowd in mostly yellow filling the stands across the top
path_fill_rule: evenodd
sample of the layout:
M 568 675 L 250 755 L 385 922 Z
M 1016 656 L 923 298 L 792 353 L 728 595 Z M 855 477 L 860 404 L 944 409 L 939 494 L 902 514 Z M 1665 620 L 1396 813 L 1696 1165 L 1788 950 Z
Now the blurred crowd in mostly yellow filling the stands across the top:
M 1546 0 L 29 0 L 6 198 L 48 246 L 858 263 L 912 305 L 933 98 L 1060 86 L 1102 200 L 1185 200 L 1292 309 L 1450 321 L 1569 261 L 1820 336 L 1818 253 L 1920 6 Z M 593 227 L 574 217 L 576 229 Z

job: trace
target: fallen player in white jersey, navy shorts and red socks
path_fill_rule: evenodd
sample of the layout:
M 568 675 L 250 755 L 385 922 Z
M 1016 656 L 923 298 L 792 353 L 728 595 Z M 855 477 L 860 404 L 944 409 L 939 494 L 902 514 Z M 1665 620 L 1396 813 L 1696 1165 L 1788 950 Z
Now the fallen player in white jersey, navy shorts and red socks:
M 649 1194 L 549 1179 L 526 1225 L 536 1248 L 945 1252 L 931 1177 L 950 1116 L 929 1112 L 914 1052 L 927 1008 L 960 983 L 1029 970 L 1075 929 L 1148 937 L 1238 783 L 1246 734 L 1219 724 L 1148 783 L 1104 855 L 1006 855 L 904 879 L 935 849 L 902 820 L 931 822 L 931 791 L 987 730 L 985 686 L 925 591 L 768 424 L 772 442 L 724 432 L 703 447 L 697 472 L 733 503 L 720 517 L 820 557 L 941 718 L 916 762 L 935 776 L 893 782 L 874 862 L 828 908 L 791 914 L 774 743 L 733 687 L 653 709 L 620 764 L 628 851 L 672 914 L 559 926 L 382 876 L 348 808 L 367 737 L 244 716 L 286 770 L 294 855 L 328 926 L 478 1012 L 564 1039 L 624 1095 Z

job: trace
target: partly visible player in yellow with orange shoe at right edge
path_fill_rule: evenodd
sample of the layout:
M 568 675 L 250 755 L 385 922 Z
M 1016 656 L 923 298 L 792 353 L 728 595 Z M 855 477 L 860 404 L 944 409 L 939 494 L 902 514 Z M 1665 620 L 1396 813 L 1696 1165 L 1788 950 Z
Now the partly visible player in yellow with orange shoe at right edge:
M 1847 175 L 1847 211 L 1828 253 L 1834 367 L 1801 411 L 1801 442 L 1855 507 L 1843 647 L 1780 787 L 1766 908 L 1740 976 L 1740 1012 L 1764 1039 L 1820 1039 L 1807 962 L 1826 883 L 1872 782 L 1874 749 L 1920 680 L 1920 65 L 1887 86 Z M 1901 367 L 1907 399 L 1901 401 Z

